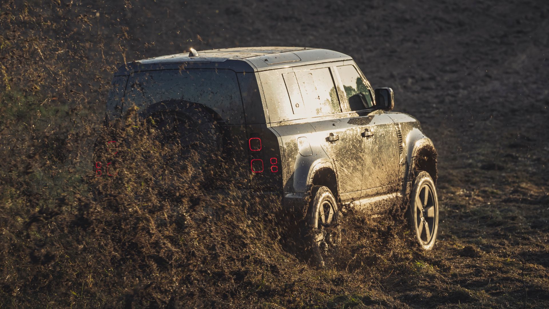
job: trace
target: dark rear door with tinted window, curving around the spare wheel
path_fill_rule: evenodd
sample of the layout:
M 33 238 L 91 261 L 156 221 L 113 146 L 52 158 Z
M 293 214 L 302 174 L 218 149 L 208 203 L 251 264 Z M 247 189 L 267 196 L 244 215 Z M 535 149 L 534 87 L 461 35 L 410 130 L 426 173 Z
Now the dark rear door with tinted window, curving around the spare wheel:
M 250 74 L 250 77 L 254 75 Z M 255 81 L 250 80 L 248 84 Z M 125 114 L 131 106 L 145 111 L 153 104 L 172 101 L 193 102 L 211 109 L 219 115 L 216 120 L 223 131 L 222 160 L 226 162 L 216 171 L 216 186 L 247 186 L 248 140 L 241 91 L 247 101 L 250 95 L 246 93 L 249 89 L 240 89 L 237 73 L 228 69 L 138 71 L 127 81 L 122 112 Z

